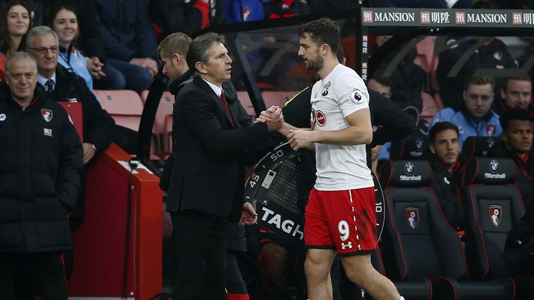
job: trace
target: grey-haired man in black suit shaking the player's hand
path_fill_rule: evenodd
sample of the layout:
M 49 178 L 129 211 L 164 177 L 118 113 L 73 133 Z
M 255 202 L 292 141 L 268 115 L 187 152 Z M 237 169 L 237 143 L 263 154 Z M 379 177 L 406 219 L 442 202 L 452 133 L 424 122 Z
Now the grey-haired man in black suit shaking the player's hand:
M 177 231 L 178 270 L 172 299 L 225 299 L 228 222 L 254 224 L 257 214 L 243 203 L 247 147 L 282 127 L 280 108 L 250 124 L 239 101 L 226 101 L 232 59 L 224 38 L 207 33 L 189 46 L 193 82 L 177 95 L 172 113 L 174 167 L 167 211 Z M 241 217 L 240 217 L 241 216 Z

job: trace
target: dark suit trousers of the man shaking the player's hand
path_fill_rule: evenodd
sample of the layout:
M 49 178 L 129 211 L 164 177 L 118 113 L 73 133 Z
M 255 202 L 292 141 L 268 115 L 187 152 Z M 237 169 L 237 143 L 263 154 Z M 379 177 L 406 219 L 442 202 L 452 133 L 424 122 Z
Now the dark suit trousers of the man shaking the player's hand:
M 172 299 L 226 299 L 227 220 L 196 211 L 170 217 L 177 256 Z

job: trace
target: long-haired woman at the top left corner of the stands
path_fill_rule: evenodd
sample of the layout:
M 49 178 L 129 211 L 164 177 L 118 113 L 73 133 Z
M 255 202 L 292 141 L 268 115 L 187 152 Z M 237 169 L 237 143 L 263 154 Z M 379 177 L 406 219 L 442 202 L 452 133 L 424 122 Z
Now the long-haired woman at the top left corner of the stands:
M 12 0 L 0 10 L 0 79 L 6 79 L 4 67 L 10 53 L 22 51 L 24 35 L 31 26 L 30 10 L 24 1 Z

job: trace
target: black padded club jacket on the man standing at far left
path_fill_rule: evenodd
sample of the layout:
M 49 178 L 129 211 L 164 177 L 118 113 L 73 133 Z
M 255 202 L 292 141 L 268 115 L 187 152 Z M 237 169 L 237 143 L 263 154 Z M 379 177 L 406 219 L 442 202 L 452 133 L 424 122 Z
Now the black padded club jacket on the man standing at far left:
M 83 149 L 65 109 L 38 90 L 21 108 L 2 82 L 0 140 L 0 253 L 69 249 Z

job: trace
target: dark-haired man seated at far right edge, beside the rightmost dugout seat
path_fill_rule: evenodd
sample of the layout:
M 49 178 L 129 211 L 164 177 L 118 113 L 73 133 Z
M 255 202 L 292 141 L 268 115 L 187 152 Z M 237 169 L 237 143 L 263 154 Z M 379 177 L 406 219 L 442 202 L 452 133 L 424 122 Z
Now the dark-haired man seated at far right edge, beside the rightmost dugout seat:
M 533 128 L 526 110 L 512 108 L 501 115 L 503 134 L 501 143 L 492 148 L 490 155 L 512 158 L 517 168 L 516 185 L 525 203 L 534 199 Z

